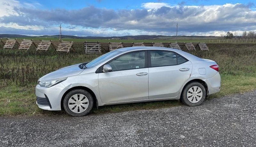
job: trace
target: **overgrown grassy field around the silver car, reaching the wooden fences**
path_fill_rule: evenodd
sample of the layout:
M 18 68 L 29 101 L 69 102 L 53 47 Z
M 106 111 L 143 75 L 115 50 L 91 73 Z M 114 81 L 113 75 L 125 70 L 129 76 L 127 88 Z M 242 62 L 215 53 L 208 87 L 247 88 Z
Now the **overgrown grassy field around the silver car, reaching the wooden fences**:
M 105 41 L 105 40 L 104 40 Z M 100 42 L 104 42 L 103 40 Z M 108 40 L 106 40 L 109 42 Z M 89 41 L 88 41 L 89 42 Z M 95 41 L 92 41 L 95 42 Z M 114 41 L 111 41 L 114 42 Z M 124 41 L 115 41 L 124 42 Z M 125 42 L 135 42 L 125 40 Z M 142 42 L 136 40 L 136 42 Z M 145 41 L 143 41 L 145 42 Z M 154 40 L 148 41 L 149 43 Z M 157 42 L 164 42 L 157 40 Z M 167 41 L 167 42 L 170 42 Z M 197 42 L 197 41 L 193 41 Z M 74 43 L 76 52 L 2 49 L 0 44 L 0 115 L 52 115 L 62 111 L 44 111 L 37 107 L 35 86 L 37 79 L 61 67 L 86 62 L 99 54 L 84 54 L 84 44 Z M 256 89 L 256 44 L 208 43 L 209 51 L 188 51 L 200 58 L 216 61 L 220 66 L 221 90 L 209 98 L 215 99 L 234 93 Z M 16 47 L 17 48 L 17 47 Z M 178 101 L 160 101 L 138 104 L 120 104 L 93 108 L 92 114 L 157 109 L 181 105 Z

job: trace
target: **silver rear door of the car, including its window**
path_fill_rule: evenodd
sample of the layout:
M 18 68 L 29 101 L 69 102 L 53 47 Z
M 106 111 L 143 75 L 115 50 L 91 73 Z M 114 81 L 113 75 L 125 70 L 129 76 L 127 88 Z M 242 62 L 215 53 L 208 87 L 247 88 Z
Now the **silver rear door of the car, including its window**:
M 190 77 L 192 63 L 172 51 L 150 50 L 148 54 L 149 99 L 177 97 Z

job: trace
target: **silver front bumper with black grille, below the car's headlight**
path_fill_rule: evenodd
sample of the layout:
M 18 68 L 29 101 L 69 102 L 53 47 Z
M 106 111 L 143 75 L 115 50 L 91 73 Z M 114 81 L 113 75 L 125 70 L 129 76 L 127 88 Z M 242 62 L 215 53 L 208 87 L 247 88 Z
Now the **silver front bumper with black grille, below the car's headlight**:
M 36 85 L 36 104 L 44 110 L 61 110 L 61 98 L 66 90 L 62 83 L 50 88 Z

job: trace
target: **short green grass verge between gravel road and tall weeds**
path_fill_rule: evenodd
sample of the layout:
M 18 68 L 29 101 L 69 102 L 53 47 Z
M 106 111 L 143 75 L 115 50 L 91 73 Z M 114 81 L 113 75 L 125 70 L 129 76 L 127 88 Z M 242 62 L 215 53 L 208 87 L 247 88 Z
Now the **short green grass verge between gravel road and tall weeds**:
M 221 90 L 209 99 L 244 93 L 256 89 L 255 76 L 221 75 Z M 118 104 L 93 108 L 91 114 L 116 113 L 132 110 L 149 110 L 181 105 L 179 101 L 157 101 L 133 104 Z M 64 111 L 47 111 L 36 105 L 34 86 L 15 85 L 0 90 L 0 116 L 10 115 L 66 115 Z

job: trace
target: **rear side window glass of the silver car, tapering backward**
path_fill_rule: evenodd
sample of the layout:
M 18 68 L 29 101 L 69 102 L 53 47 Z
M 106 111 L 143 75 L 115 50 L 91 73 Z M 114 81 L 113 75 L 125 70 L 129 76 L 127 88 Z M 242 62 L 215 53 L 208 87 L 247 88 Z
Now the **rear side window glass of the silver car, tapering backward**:
M 172 66 L 188 60 L 171 51 L 150 51 L 151 67 Z

